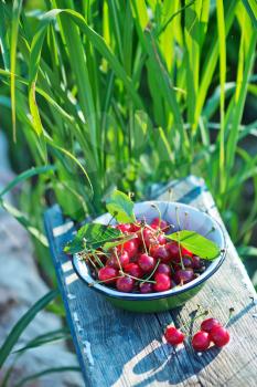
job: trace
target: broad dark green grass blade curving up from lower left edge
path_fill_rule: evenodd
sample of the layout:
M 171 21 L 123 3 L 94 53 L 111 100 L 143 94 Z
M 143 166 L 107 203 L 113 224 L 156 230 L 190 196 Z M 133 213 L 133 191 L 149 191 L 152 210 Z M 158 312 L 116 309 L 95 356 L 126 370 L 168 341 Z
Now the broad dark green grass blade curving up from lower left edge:
M 40 299 L 13 326 L 4 343 L 0 348 L 0 368 L 6 362 L 7 357 L 11 353 L 13 346 L 17 344 L 19 337 L 26 328 L 26 326 L 33 321 L 36 314 L 42 311 L 50 302 L 52 302 L 58 295 L 58 290 L 52 290 Z

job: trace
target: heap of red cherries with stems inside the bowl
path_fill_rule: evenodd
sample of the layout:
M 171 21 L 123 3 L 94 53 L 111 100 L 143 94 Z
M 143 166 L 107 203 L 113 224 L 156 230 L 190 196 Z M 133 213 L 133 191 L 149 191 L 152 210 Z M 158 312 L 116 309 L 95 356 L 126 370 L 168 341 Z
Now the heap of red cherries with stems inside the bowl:
M 107 252 L 98 249 L 97 260 L 92 257 L 87 261 L 99 283 L 120 292 L 164 292 L 194 280 L 205 270 L 200 257 L 167 239 L 172 231 L 165 220 L 156 218 L 150 224 L 143 221 L 115 228 L 131 239 Z

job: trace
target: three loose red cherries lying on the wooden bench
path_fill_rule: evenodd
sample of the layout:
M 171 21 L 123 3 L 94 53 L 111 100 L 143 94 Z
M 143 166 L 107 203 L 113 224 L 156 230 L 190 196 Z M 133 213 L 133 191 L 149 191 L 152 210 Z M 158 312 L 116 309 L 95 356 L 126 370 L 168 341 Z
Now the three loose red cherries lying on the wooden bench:
M 169 344 L 174 346 L 182 344 L 185 339 L 183 332 L 172 325 L 167 327 L 164 337 Z M 228 331 L 216 318 L 211 317 L 202 322 L 201 331 L 192 337 L 192 347 L 196 352 L 204 352 L 213 343 L 221 348 L 229 342 L 229 338 Z

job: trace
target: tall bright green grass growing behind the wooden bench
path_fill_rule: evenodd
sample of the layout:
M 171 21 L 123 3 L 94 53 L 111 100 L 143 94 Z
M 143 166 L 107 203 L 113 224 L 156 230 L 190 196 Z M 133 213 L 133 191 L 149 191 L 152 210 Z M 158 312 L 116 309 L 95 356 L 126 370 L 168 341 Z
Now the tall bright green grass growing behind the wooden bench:
M 189 174 L 205 178 L 240 252 L 257 255 L 247 247 L 256 226 L 257 157 L 244 148 L 257 136 L 256 121 L 242 123 L 247 96 L 257 95 L 255 1 L 38 4 L 0 1 L 1 126 L 17 140 L 13 161 L 22 171 L 0 201 L 31 232 L 50 282 L 42 230 L 50 202 L 79 221 L 99 213 L 116 186 L 140 199 L 152 182 Z M 4 201 L 35 176 L 23 186 L 22 211 Z M 248 181 L 254 199 L 242 223 Z M 1 363 L 21 325 L 13 330 Z M 47 372 L 60 369 L 20 385 Z

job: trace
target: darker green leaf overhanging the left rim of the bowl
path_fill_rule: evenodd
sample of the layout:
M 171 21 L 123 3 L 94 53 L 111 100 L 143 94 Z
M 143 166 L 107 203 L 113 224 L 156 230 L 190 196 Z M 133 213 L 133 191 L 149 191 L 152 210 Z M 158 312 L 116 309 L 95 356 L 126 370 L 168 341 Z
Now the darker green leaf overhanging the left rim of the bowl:
M 87 248 L 97 249 L 106 242 L 114 241 L 121 236 L 121 231 L 114 229 L 110 226 L 99 223 L 88 223 L 83 226 L 73 241 L 68 242 L 64 251 L 69 254 L 75 254 Z

